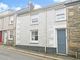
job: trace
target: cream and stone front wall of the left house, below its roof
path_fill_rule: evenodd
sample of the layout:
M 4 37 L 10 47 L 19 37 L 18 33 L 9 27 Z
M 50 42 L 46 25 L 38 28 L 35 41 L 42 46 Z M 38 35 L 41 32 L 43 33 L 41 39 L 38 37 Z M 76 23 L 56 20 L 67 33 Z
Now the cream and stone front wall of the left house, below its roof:
M 0 31 L 2 32 L 2 41 L 3 41 L 3 44 L 9 44 L 11 43 L 11 45 L 13 44 L 13 39 L 15 37 L 15 14 L 14 15 L 11 15 L 13 16 L 13 23 L 10 24 L 10 16 L 4 16 L 4 17 L 1 17 L 0 16 Z M 9 38 L 10 37 L 10 31 L 13 31 L 13 36 L 12 38 Z

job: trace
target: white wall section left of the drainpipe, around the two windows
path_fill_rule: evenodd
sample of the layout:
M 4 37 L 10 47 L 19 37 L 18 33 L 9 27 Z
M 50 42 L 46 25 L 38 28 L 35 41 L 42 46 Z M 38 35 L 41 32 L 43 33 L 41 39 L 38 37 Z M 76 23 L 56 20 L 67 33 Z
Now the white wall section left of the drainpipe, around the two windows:
M 45 12 L 38 13 L 38 24 L 31 24 L 30 15 L 22 15 L 17 17 L 16 24 L 16 45 L 27 46 L 45 46 L 46 41 L 46 22 Z M 31 41 L 31 31 L 38 30 L 38 41 Z

